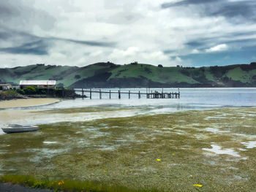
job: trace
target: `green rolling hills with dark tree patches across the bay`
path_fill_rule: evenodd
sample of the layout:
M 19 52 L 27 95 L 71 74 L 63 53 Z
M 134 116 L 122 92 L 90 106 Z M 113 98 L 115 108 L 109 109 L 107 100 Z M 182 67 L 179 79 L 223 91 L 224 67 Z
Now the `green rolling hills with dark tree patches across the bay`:
M 0 69 L 0 82 L 57 80 L 72 88 L 256 87 L 256 63 L 230 66 L 162 67 L 148 64 L 50 66 L 36 64 Z

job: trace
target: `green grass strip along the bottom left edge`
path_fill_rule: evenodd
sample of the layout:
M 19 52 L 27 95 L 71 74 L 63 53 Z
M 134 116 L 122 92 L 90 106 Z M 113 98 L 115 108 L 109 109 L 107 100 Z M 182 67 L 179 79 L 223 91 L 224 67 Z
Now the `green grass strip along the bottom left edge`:
M 29 188 L 51 189 L 53 191 L 90 191 L 90 192 L 157 192 L 157 190 L 132 190 L 106 183 L 80 182 L 75 180 L 37 180 L 31 176 L 4 175 L 0 183 L 12 183 Z

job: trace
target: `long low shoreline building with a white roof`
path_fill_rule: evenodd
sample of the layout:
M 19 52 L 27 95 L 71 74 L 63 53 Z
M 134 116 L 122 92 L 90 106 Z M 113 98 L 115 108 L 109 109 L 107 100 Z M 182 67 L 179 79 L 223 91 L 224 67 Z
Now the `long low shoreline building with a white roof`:
M 28 86 L 54 89 L 56 88 L 56 80 L 20 80 L 20 88 Z

